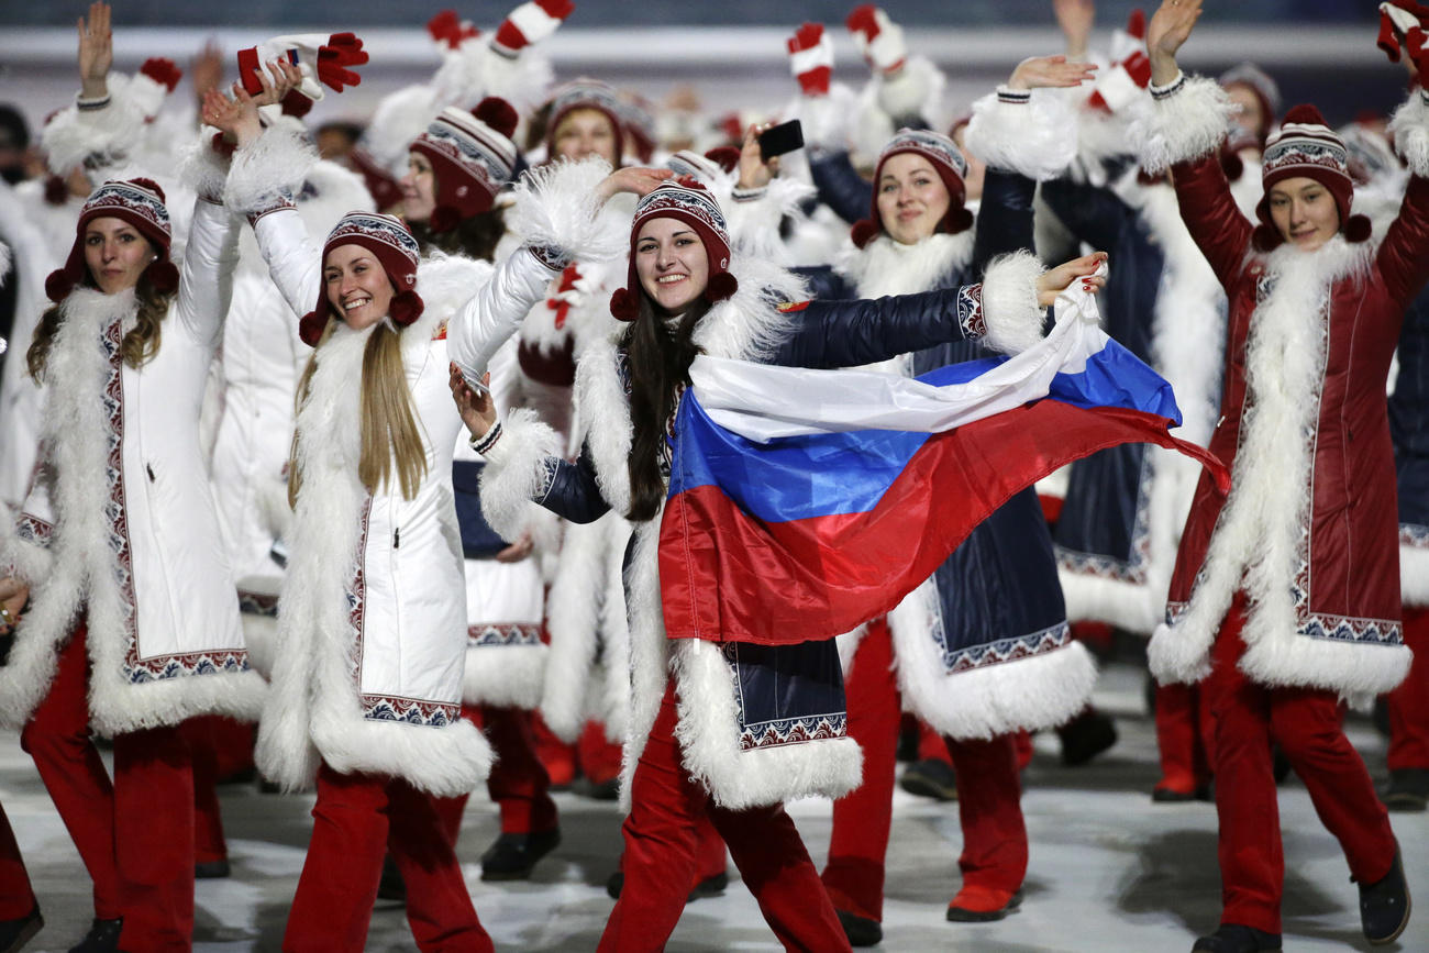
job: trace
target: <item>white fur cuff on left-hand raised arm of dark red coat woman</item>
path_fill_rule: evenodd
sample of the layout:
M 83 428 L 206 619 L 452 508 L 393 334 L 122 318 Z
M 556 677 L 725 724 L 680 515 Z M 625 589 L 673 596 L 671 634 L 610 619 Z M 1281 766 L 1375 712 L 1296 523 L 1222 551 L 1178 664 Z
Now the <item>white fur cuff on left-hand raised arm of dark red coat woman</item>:
M 1142 169 L 1159 176 L 1220 149 L 1236 107 L 1215 80 L 1180 74 L 1150 93 L 1150 107 L 1142 110 L 1129 134 Z

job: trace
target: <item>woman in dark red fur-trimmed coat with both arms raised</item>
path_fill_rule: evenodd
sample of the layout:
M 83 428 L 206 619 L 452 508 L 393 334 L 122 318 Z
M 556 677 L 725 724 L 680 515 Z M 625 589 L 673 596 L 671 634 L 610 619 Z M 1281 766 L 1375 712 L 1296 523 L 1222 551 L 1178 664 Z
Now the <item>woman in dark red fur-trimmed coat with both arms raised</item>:
M 1215 719 L 1223 909 L 1195 949 L 1280 949 L 1272 739 L 1340 842 L 1366 939 L 1389 943 L 1408 924 L 1409 890 L 1339 713 L 1342 699 L 1396 686 L 1410 662 L 1385 379 L 1429 277 L 1429 96 L 1410 93 L 1389 127 L 1412 177 L 1386 230 L 1352 214 L 1345 143 L 1312 106 L 1266 141 L 1252 223 L 1216 159 L 1230 104 L 1176 66 L 1199 16 L 1200 0 L 1166 0 L 1152 19 L 1155 101 L 1140 130 L 1142 166 L 1170 169 L 1230 300 L 1225 416 L 1209 449 L 1230 463 L 1232 490 L 1218 500 L 1198 486 L 1150 643 L 1152 673 L 1203 682 Z M 1408 31 L 1422 39 L 1415 17 Z

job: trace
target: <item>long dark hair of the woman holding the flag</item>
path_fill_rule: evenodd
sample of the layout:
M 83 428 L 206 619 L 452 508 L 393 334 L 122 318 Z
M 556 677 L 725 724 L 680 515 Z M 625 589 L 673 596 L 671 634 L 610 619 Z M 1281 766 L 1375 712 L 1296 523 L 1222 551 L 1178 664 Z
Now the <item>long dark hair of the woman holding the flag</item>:
M 632 289 L 634 290 L 634 289 Z M 710 306 L 699 297 L 679 320 L 660 316 L 644 290 L 639 314 L 630 321 L 622 347 L 630 371 L 630 512 L 632 520 L 650 520 L 664 502 L 660 457 L 664 433 L 674 413 L 676 390 L 690 383 L 690 363 L 700 353 L 694 327 Z

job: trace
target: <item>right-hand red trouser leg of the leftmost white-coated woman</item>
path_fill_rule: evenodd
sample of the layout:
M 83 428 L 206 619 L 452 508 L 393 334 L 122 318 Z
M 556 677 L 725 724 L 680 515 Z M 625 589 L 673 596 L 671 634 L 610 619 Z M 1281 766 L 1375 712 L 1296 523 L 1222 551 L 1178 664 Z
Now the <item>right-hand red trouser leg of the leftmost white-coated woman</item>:
M 179 727 L 116 734 L 114 854 L 129 894 L 120 949 L 191 947 L 193 824 L 193 766 Z

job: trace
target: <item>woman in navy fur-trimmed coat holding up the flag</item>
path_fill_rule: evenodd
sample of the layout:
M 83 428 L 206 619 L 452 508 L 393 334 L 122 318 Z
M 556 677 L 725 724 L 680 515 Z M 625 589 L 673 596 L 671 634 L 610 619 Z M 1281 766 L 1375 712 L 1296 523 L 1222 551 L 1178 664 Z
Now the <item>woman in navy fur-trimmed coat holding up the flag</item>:
M 497 532 L 523 522 L 533 500 L 574 522 L 617 509 L 637 524 L 626 569 L 633 712 L 622 792 L 630 810 L 624 890 L 600 949 L 663 947 L 684 904 L 700 814 L 729 844 L 786 946 L 847 949 L 782 807 L 805 794 L 842 796 L 860 780 L 833 642 L 799 642 L 799 633 L 785 633 L 779 644 L 666 639 L 656 546 L 669 427 L 690 361 L 704 353 L 843 367 L 947 340 L 1036 340 L 1057 289 L 1077 279 L 1100 284 L 1090 277 L 1100 257 L 1043 273 L 1015 256 L 993 261 L 976 286 L 780 306 L 803 299 L 802 283 L 732 250 L 723 211 L 693 180 L 644 196 L 629 241 L 627 284 L 610 303 L 620 324 L 577 367 L 577 403 L 594 421 L 577 461 L 562 459 L 554 431 L 533 414 L 517 410 L 497 421 L 490 400 L 452 374 L 463 420 L 487 460 L 482 502 Z

